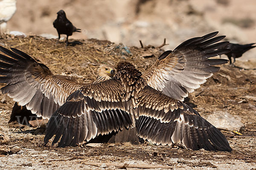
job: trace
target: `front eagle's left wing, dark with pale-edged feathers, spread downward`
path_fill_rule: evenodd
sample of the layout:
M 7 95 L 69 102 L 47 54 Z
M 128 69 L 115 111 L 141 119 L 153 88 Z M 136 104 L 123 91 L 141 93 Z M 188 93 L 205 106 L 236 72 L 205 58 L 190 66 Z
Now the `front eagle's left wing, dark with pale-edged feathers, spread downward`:
M 65 147 L 133 127 L 125 103 L 125 90 L 117 79 L 84 85 L 49 119 L 44 142 L 56 135 L 52 144 L 61 138 L 58 146 Z

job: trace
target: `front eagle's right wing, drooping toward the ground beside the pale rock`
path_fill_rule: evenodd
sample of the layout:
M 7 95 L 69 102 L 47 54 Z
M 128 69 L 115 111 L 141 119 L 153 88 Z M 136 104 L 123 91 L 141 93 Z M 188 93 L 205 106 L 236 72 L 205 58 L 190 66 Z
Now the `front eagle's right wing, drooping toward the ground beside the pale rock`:
M 194 109 L 146 87 L 136 96 L 138 135 L 155 144 L 180 144 L 192 150 L 231 151 L 225 136 Z

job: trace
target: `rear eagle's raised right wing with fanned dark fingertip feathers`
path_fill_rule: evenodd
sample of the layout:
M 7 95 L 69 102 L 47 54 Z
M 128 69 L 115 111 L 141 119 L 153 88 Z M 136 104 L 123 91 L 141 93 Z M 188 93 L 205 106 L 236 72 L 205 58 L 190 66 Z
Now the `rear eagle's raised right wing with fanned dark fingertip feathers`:
M 143 78 L 152 88 L 183 101 L 188 93 L 199 88 L 212 76 L 212 73 L 220 70 L 213 65 L 228 62 L 226 59 L 209 59 L 230 51 L 216 50 L 228 44 L 228 42 L 218 42 L 225 36 L 214 37 L 216 34 L 218 32 L 189 39 L 177 46 L 174 51 L 164 52 Z

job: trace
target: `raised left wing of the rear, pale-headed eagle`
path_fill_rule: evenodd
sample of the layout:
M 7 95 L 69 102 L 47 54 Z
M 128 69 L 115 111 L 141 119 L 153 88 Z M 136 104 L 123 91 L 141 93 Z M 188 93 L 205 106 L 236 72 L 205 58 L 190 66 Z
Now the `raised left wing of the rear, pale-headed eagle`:
M 71 81 L 71 77 L 54 75 L 49 68 L 36 62 L 32 57 L 11 48 L 12 51 L 0 46 L 0 83 L 7 85 L 1 88 L 19 105 L 32 113 L 49 119 L 67 97 L 82 85 Z

